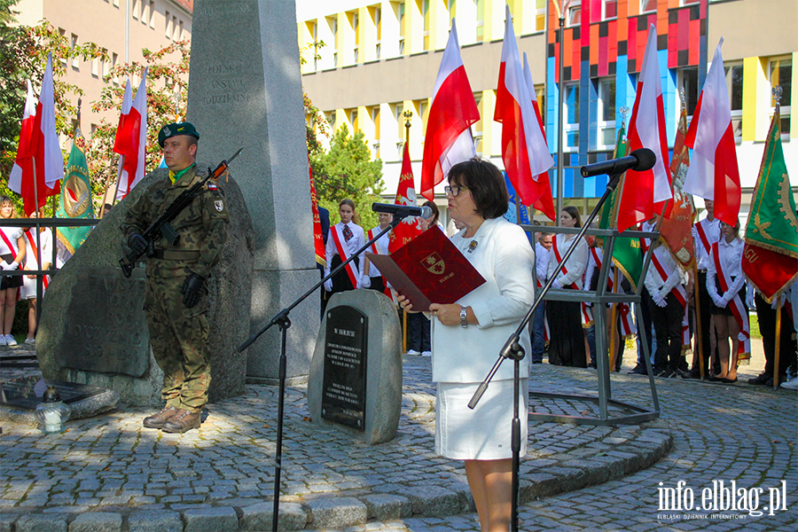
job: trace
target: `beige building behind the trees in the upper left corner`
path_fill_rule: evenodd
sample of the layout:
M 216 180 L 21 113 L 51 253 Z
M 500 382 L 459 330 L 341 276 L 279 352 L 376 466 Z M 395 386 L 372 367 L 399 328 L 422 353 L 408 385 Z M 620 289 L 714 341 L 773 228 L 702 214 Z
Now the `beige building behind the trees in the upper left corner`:
M 85 92 L 81 129 L 88 136 L 103 118 L 112 123 L 119 119 L 118 113 L 91 110 L 90 104 L 99 100 L 106 87 L 103 76 L 117 64 L 143 62 L 144 48 L 157 51 L 190 40 L 193 4 L 193 0 L 20 0 L 13 9 L 19 12 L 16 18 L 21 24 L 34 26 L 48 20 L 69 43 L 96 43 L 108 51 L 105 63 L 74 60 L 66 69 L 66 82 Z M 132 82 L 135 90 L 140 80 Z

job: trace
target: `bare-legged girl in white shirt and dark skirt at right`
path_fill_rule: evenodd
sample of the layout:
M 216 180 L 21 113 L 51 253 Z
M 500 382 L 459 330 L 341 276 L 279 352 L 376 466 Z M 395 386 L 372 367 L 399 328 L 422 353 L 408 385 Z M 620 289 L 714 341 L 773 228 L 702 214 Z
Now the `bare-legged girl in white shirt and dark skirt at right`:
M 717 354 L 721 371 L 714 377 L 710 377 L 709 380 L 737 382 L 738 335 L 741 328 L 738 318 L 732 312 L 732 306 L 737 303 L 738 311 L 742 310 L 741 307 L 745 307 L 743 301 L 746 301 L 746 278 L 742 271 L 744 246 L 743 241 L 739 239 L 739 221 L 733 226 L 721 222 L 721 239 L 712 245 L 707 268 L 707 292 L 713 303 L 710 312 L 716 332 Z M 716 247 L 717 257 L 714 256 Z M 722 278 L 731 280 L 731 285 L 727 286 L 726 290 L 721 286 Z M 737 296 L 739 296 L 739 300 L 735 300 Z M 747 309 L 745 312 L 745 324 L 747 325 Z M 729 340 L 732 340 L 731 352 Z

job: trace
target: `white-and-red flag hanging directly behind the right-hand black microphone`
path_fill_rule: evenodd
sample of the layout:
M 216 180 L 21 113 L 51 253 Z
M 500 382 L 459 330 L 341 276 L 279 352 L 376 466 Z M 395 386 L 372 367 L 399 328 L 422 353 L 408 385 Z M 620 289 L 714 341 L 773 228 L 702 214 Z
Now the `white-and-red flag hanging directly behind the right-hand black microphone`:
M 639 148 L 649 148 L 656 155 L 653 168 L 635 172 L 626 180 L 618 207 L 618 230 L 625 231 L 640 222 L 659 214 L 673 194 L 668 140 L 665 132 L 665 106 L 662 101 L 660 62 L 657 59 L 657 30 L 648 28 L 648 43 L 638 77 L 635 105 L 629 122 L 629 153 Z

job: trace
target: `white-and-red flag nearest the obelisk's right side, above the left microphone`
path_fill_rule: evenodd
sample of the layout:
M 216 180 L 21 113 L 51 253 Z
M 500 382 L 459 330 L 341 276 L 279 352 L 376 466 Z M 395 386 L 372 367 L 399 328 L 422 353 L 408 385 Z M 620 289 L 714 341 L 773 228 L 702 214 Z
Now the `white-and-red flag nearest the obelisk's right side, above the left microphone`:
M 479 120 L 480 112 L 460 58 L 458 29 L 452 19 L 426 121 L 421 194 L 427 200 L 434 200 L 434 186 L 443 181 L 451 167 L 476 154 L 471 125 Z

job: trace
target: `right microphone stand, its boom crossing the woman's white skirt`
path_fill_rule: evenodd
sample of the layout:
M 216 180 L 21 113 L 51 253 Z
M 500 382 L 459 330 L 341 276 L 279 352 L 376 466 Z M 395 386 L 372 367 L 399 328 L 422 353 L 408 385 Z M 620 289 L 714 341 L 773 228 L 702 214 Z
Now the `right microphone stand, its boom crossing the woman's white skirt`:
M 606 184 L 606 191 L 599 199 L 599 203 L 596 204 L 596 207 L 593 207 L 591 215 L 588 216 L 585 223 L 582 225 L 581 231 L 576 234 L 576 238 L 571 246 L 568 247 L 566 254 L 563 255 L 562 260 L 557 265 L 557 269 L 555 271 L 559 271 L 563 265 L 567 262 L 568 258 L 571 254 L 574 253 L 576 246 L 579 244 L 580 239 L 583 238 L 585 231 L 587 231 L 590 224 L 593 222 L 593 219 L 596 215 L 599 214 L 599 210 L 604 205 L 604 202 L 609 197 L 610 194 L 613 193 L 615 187 L 618 186 L 618 182 L 621 180 L 621 174 L 614 174 L 609 176 L 609 182 Z M 499 351 L 499 356 L 496 361 L 496 364 L 493 364 L 493 367 L 490 369 L 488 376 L 485 380 L 482 381 L 480 386 L 477 388 L 476 392 L 474 392 L 471 401 L 468 402 L 468 408 L 474 409 L 477 403 L 480 402 L 482 395 L 485 393 L 485 390 L 488 389 L 490 384 L 490 380 L 493 379 L 494 375 L 498 371 L 499 367 L 505 361 L 505 359 L 510 358 L 513 361 L 513 393 L 515 394 L 515 398 L 512 401 L 512 442 L 511 442 L 511 450 L 512 450 L 512 514 L 511 514 L 511 528 L 512 532 L 518 532 L 518 491 L 519 491 L 519 479 L 518 479 L 518 469 L 520 465 L 520 413 L 518 407 L 518 397 L 520 394 L 520 361 L 524 358 L 524 349 L 520 345 L 520 335 L 524 329 L 527 328 L 529 324 L 529 320 L 534 316 L 535 311 L 538 306 L 540 306 L 541 301 L 544 300 L 546 293 L 549 293 L 549 290 L 552 289 L 552 284 L 554 283 L 554 278 L 557 276 L 553 276 L 550 278 L 543 290 L 537 294 L 535 298 L 535 302 L 532 303 L 532 307 L 528 310 L 527 315 L 521 320 L 520 325 L 518 328 L 510 335 L 510 338 L 507 339 L 505 345 Z

